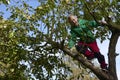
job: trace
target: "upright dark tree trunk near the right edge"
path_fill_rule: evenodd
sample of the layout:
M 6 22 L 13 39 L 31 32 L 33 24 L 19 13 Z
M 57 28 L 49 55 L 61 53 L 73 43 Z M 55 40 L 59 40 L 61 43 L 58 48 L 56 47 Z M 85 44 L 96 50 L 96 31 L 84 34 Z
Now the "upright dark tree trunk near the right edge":
M 117 74 L 116 74 L 116 44 L 117 40 L 119 38 L 119 32 L 113 31 L 112 36 L 110 38 L 109 43 L 109 51 L 108 51 L 108 61 L 109 61 L 109 72 L 111 75 L 113 75 L 114 80 L 118 80 Z

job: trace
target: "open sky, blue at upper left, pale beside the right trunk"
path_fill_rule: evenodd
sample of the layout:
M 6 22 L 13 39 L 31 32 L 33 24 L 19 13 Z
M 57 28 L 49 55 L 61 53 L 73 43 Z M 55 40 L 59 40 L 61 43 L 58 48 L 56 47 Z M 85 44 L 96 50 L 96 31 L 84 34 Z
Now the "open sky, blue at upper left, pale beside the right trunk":
M 37 0 L 31 0 L 29 4 L 32 4 L 34 7 L 38 6 L 39 4 L 36 4 Z M 5 5 L 0 5 L 0 12 L 4 11 L 4 18 L 6 19 L 7 17 L 10 16 L 10 13 L 6 11 Z M 109 40 L 103 41 L 103 43 L 100 42 L 100 40 L 97 39 L 98 46 L 100 48 L 101 53 L 105 56 L 106 62 L 108 62 L 108 46 L 109 46 Z M 118 40 L 118 43 L 116 45 L 116 53 L 120 54 L 120 37 Z M 118 75 L 118 80 L 120 80 L 120 55 L 116 57 L 116 66 L 117 66 L 117 75 Z

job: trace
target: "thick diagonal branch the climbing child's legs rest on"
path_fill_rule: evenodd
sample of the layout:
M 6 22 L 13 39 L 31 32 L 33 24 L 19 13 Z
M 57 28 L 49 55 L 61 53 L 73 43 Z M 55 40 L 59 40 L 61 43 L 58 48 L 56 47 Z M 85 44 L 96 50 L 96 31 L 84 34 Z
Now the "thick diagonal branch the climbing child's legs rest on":
M 93 71 L 93 73 L 95 73 L 99 79 L 101 80 L 110 80 L 109 74 L 106 74 L 105 72 L 103 72 L 101 69 L 93 66 L 88 60 L 86 60 L 85 58 L 79 56 L 79 55 L 74 55 L 74 54 L 78 54 L 78 53 L 72 53 L 69 49 L 67 48 L 63 48 L 62 49 L 66 54 L 68 54 L 69 56 L 73 57 L 74 59 L 78 60 L 80 63 L 82 63 L 84 66 L 86 66 L 87 68 L 89 68 L 90 70 Z

